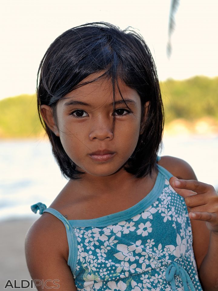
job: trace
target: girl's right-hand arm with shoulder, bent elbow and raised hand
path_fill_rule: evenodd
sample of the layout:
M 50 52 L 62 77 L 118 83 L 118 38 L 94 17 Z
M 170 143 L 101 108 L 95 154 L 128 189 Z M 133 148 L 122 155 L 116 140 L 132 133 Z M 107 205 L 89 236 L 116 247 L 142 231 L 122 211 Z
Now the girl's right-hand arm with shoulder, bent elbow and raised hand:
M 188 211 L 196 214 L 193 217 L 190 213 L 189 217 L 192 225 L 193 249 L 199 277 L 205 291 L 217 291 L 218 195 L 213 186 L 198 182 L 193 169 L 183 160 L 163 157 L 162 163 L 168 163 L 168 171 L 171 168 L 170 172 L 173 176 L 182 179 L 180 180 L 180 186 L 175 187 L 173 181 L 176 178 L 171 178 L 170 185 L 183 196 Z M 173 166 L 173 163 L 176 163 L 176 166 Z M 197 194 L 193 195 L 194 193 Z

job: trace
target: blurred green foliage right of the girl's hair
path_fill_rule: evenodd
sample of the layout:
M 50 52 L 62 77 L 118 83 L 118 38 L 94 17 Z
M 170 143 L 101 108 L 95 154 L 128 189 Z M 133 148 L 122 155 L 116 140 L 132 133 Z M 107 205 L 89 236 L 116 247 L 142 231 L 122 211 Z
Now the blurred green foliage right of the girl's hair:
M 167 80 L 160 86 L 166 123 L 179 118 L 196 121 L 206 116 L 218 121 L 218 77 Z

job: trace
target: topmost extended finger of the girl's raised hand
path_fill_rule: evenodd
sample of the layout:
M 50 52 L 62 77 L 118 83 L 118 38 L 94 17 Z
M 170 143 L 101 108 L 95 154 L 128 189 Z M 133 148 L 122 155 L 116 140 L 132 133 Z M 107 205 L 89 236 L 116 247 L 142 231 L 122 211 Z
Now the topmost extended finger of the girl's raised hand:
M 191 190 L 198 194 L 208 191 L 215 191 L 212 185 L 199 182 L 197 180 L 172 179 L 172 185 L 175 188 Z

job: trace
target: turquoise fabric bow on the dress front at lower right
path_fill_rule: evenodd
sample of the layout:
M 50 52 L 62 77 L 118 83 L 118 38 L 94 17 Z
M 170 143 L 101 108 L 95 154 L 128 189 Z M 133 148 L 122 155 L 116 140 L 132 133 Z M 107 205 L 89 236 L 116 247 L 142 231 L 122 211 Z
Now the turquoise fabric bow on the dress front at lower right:
M 170 282 L 173 291 L 176 291 L 175 276 L 180 276 L 182 279 L 184 291 L 195 291 L 192 280 L 187 271 L 179 266 L 176 262 L 173 262 L 166 270 L 166 281 Z

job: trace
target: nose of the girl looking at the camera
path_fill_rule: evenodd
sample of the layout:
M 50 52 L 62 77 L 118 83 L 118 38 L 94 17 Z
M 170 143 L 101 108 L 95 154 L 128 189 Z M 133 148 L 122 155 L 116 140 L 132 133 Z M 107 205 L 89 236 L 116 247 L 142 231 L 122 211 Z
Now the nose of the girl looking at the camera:
M 112 139 L 112 120 L 99 114 L 92 122 L 89 139 Z

